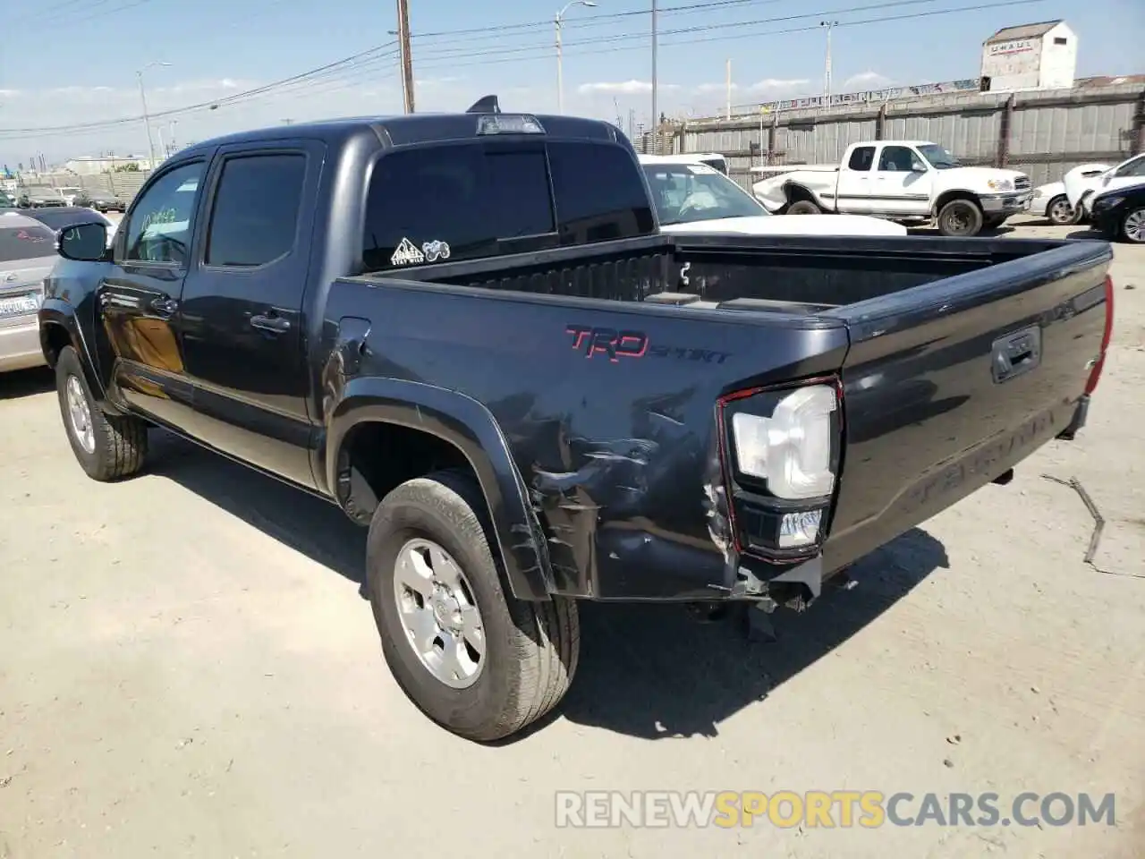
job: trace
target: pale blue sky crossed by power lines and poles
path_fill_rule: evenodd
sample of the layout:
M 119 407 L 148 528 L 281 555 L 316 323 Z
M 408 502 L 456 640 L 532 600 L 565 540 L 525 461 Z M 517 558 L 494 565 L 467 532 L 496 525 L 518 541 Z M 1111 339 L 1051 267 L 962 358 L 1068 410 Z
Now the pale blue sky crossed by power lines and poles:
M 725 101 L 732 61 L 734 103 L 822 92 L 822 17 L 837 19 L 835 92 L 978 74 L 981 42 L 1002 26 L 1065 18 L 1080 38 L 1079 76 L 1145 72 L 1145 0 L 1036 0 L 987 6 L 985 0 L 660 0 L 660 107 L 704 116 Z M 709 3 L 712 0 L 708 0 Z M 552 17 L 560 0 L 410 0 L 419 110 L 460 110 L 496 92 L 503 108 L 542 112 L 556 105 Z M 855 9 L 855 7 L 866 7 Z M 673 10 L 676 8 L 676 10 Z M 650 2 L 598 0 L 575 7 L 564 29 L 564 110 L 627 121 L 650 111 Z M 848 11 L 848 9 L 853 9 Z M 603 17 L 613 15 L 616 17 Z M 871 18 L 911 16 L 861 23 Z M 599 17 L 594 17 L 599 16 Z M 802 16 L 802 17 L 796 17 Z M 779 21 L 777 18 L 789 18 Z M 737 22 L 742 22 L 736 25 Z M 152 112 L 227 98 L 393 40 L 393 2 L 341 0 L 44 0 L 18 3 L 0 39 L 0 163 L 15 167 L 32 153 L 48 160 L 101 151 L 142 153 L 141 121 L 56 133 L 46 126 L 100 123 L 140 115 L 135 70 L 147 71 Z M 493 29 L 495 27 L 495 29 Z M 705 27 L 714 27 L 706 29 Z M 814 27 L 808 32 L 790 32 Z M 481 32 L 459 33 L 460 30 Z M 676 32 L 672 31 L 685 31 Z M 788 32 L 783 32 L 788 31 Z M 735 37 L 735 38 L 728 38 Z M 19 53 L 11 53 L 13 46 Z M 40 46 L 40 48 L 37 48 Z M 82 47 L 92 56 L 78 58 Z M 6 49 L 7 48 L 7 49 Z M 66 50 L 66 62 L 41 62 L 38 50 Z M 108 48 L 108 58 L 96 58 Z M 218 110 L 200 109 L 155 123 L 157 135 L 185 143 L 284 119 L 386 113 L 401 109 L 397 60 L 390 52 Z M 171 119 L 176 119 L 172 125 Z

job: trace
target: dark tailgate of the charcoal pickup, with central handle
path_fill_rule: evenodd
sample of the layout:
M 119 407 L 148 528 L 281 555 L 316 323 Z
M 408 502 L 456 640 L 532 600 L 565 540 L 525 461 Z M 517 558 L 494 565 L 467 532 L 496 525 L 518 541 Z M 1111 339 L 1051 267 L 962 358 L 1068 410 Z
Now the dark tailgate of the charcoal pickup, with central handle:
M 1068 242 L 826 314 L 851 334 L 828 569 L 950 506 L 1069 425 L 1101 350 L 1112 258 L 1104 242 Z

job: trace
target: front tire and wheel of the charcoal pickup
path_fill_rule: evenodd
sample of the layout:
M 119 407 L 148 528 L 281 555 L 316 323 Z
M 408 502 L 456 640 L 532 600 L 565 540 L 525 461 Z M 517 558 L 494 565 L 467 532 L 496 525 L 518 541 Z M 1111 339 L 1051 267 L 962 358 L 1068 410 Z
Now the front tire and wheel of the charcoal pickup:
M 143 467 L 148 425 L 128 415 L 106 415 L 100 410 L 84 377 L 79 355 L 71 346 L 63 348 L 56 362 L 56 394 L 68 442 L 89 478 L 100 481 L 119 480 Z M 72 396 L 77 407 L 74 418 Z M 89 435 L 81 432 L 85 426 L 84 408 Z

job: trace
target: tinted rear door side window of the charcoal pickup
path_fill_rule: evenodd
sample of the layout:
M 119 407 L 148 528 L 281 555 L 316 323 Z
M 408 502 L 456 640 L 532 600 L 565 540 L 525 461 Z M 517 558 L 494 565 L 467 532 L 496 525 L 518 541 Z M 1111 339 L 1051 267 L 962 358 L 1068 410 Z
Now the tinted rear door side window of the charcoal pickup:
M 294 247 L 305 179 L 302 153 L 228 159 L 215 190 L 206 265 L 253 268 L 285 257 Z

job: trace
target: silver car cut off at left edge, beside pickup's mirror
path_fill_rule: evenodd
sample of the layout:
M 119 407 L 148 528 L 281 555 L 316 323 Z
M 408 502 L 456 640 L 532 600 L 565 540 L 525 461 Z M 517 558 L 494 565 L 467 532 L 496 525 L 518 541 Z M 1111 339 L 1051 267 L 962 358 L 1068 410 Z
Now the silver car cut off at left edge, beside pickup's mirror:
M 0 213 L 0 372 L 45 363 L 37 313 L 57 259 L 55 233 L 26 215 Z

